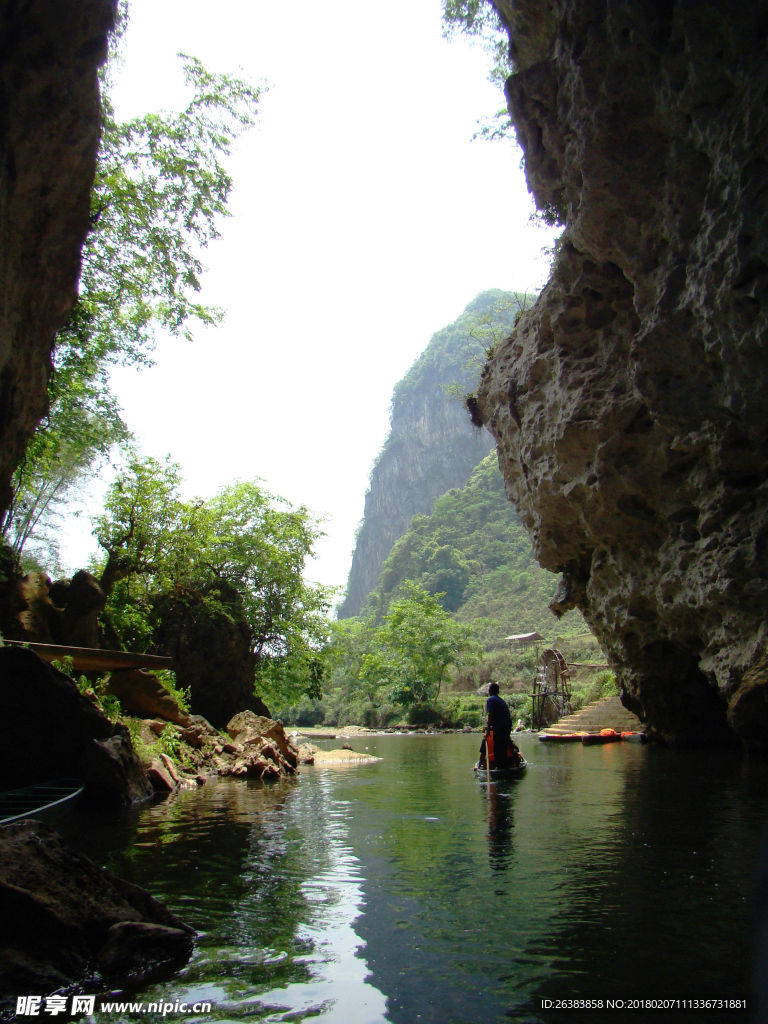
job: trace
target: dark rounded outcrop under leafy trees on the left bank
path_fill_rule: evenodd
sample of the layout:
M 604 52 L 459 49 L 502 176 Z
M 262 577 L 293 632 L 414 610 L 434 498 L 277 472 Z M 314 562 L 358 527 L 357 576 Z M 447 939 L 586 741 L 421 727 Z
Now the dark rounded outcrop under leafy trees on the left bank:
M 190 708 L 218 728 L 241 711 L 269 717 L 254 694 L 251 627 L 234 588 L 217 584 L 216 600 L 193 590 L 163 596 L 155 607 L 156 640 L 173 657 L 176 681 Z

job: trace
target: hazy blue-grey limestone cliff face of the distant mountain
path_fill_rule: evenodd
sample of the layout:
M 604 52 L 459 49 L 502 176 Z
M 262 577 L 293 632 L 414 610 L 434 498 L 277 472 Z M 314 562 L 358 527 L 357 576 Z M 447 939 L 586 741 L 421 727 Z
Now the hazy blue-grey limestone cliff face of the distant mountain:
M 482 292 L 455 324 L 432 336 L 395 386 L 390 432 L 371 473 L 340 618 L 359 612 L 414 515 L 429 514 L 436 498 L 463 486 L 490 451 L 488 434 L 470 426 L 461 403 L 440 384 L 473 385 L 468 360 L 484 355 L 488 329 L 493 333 L 506 317 L 511 325 L 517 304 L 513 293 Z

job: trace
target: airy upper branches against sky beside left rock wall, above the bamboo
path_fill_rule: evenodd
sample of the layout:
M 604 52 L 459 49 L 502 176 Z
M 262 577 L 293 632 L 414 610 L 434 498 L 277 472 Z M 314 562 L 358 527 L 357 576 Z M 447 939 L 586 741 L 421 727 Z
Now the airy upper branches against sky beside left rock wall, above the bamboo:
M 180 56 L 193 89 L 181 113 L 118 122 L 104 100 L 93 231 L 83 250 L 80 299 L 56 342 L 59 375 L 89 375 L 104 359 L 146 364 L 157 327 L 189 339 L 190 322 L 221 318 L 195 297 L 200 249 L 218 238 L 218 221 L 227 216 L 232 181 L 220 159 L 255 123 L 264 86 Z

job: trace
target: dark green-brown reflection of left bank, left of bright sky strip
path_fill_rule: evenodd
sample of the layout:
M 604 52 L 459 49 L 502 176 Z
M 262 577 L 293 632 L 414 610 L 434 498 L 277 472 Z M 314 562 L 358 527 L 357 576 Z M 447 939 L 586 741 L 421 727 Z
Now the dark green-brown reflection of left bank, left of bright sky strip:
M 310 914 L 303 885 L 316 865 L 287 810 L 297 792 L 290 781 L 221 780 L 134 812 L 111 869 L 200 933 L 188 967 L 147 998 L 237 1002 L 311 979 L 312 942 L 298 932 Z M 85 852 L 101 859 L 114 828 L 91 830 Z

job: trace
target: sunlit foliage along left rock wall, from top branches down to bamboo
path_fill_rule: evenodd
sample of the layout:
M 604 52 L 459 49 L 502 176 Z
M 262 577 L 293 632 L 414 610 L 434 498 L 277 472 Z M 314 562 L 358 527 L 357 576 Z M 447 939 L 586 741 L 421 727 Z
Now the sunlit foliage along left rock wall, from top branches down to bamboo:
M 181 113 L 121 123 L 109 98 L 102 102 L 80 297 L 56 337 L 47 420 L 16 470 L 13 502 L 0 522 L 17 556 L 73 485 L 130 438 L 110 394 L 110 367 L 151 365 L 158 327 L 190 339 L 195 321 L 222 316 L 197 301 L 200 253 L 227 215 L 232 182 L 220 158 L 254 124 L 265 87 L 180 56 L 193 89 Z

